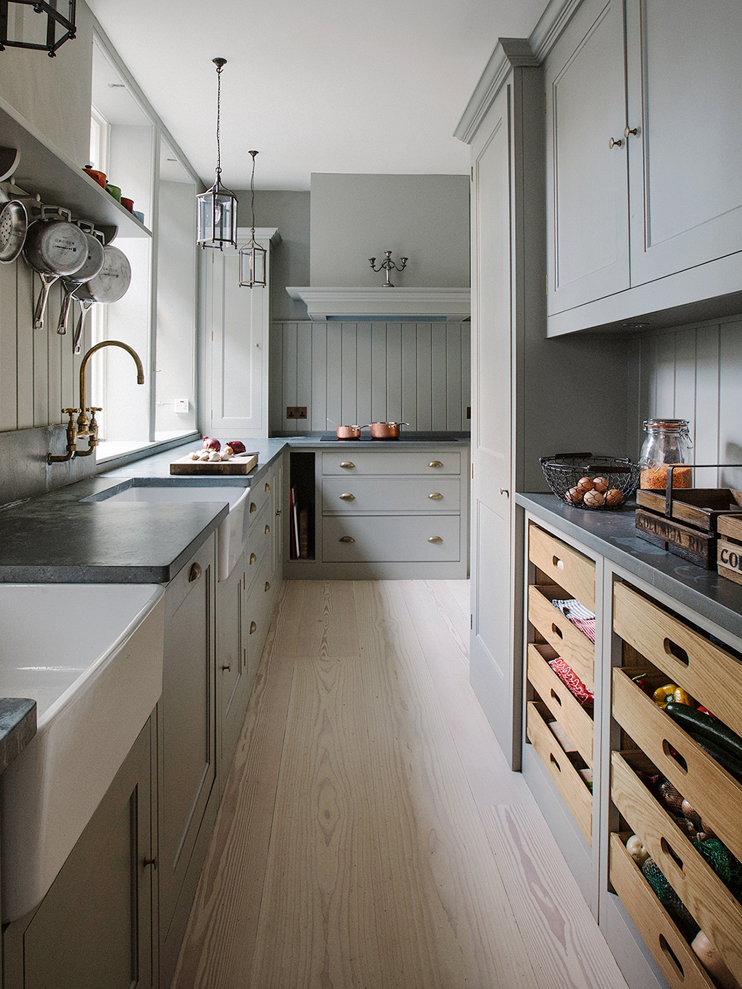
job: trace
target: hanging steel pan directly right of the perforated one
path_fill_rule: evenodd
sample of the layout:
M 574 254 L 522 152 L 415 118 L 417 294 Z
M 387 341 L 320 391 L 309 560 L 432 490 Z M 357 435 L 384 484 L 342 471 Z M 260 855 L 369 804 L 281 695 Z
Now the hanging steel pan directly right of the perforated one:
M 56 213 L 56 217 L 47 214 Z M 66 216 L 66 220 L 62 219 Z M 48 291 L 64 275 L 73 275 L 85 263 L 87 237 L 79 226 L 70 223 L 68 210 L 43 206 L 42 219 L 35 220 L 26 233 L 23 253 L 31 267 L 39 272 L 42 292 L 34 312 L 34 329 L 44 325 Z

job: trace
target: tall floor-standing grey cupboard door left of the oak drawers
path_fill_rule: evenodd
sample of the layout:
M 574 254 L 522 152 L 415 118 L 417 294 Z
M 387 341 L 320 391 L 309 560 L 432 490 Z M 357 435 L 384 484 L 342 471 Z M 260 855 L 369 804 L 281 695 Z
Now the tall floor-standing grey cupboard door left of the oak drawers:
M 472 195 L 471 681 L 513 757 L 510 597 L 510 85 L 475 138 Z

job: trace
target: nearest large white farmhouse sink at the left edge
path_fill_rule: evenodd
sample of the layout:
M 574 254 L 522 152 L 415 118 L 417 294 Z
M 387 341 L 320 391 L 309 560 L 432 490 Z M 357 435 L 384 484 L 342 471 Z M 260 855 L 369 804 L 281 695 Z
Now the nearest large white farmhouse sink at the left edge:
M 0 695 L 38 731 L 0 777 L 3 922 L 36 907 L 162 693 L 164 588 L 0 584 Z

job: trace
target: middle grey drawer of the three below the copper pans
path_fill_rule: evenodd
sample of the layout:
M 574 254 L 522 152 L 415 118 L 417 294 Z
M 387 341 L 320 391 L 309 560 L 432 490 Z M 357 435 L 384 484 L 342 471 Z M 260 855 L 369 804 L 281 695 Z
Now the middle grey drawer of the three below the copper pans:
M 458 478 L 325 478 L 324 511 L 459 510 Z

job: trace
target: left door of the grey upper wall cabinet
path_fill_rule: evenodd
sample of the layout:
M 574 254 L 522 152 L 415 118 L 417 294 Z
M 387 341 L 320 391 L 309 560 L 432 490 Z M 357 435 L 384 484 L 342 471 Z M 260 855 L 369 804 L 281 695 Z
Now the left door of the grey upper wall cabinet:
M 623 35 L 621 0 L 587 0 L 546 61 L 549 315 L 628 288 Z

